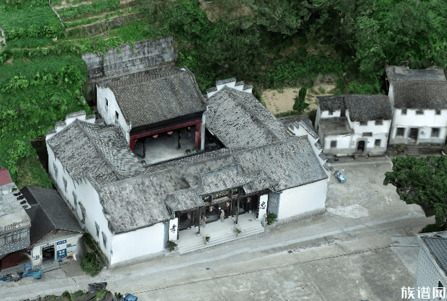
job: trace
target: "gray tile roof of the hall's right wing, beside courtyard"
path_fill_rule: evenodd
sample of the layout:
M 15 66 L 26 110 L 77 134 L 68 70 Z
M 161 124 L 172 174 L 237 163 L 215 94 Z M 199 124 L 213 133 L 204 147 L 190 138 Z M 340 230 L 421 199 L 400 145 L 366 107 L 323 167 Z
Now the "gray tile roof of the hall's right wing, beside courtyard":
M 224 86 L 206 100 L 205 125 L 227 148 L 247 148 L 291 138 L 278 121 L 251 93 Z

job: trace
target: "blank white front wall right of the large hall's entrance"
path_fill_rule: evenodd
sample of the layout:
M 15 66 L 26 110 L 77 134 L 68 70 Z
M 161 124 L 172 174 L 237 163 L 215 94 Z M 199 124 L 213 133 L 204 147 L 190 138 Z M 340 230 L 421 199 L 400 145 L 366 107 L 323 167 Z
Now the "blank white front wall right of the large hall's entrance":
M 280 195 L 278 219 L 325 208 L 326 197 L 326 179 L 284 190 Z

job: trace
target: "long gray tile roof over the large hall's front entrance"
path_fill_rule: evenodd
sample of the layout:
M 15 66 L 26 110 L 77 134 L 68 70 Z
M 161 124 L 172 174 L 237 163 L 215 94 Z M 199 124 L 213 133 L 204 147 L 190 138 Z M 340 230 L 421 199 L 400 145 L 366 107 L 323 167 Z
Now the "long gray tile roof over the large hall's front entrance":
M 221 176 L 221 172 L 227 174 Z M 235 179 L 230 179 L 229 174 Z M 243 185 L 247 193 L 266 188 L 280 192 L 322 179 L 327 179 L 327 174 L 303 136 L 252 149 L 219 149 L 152 165 L 132 179 L 102 185 L 100 199 L 113 232 L 119 233 L 172 219 L 171 206 L 195 206 L 194 194 L 183 194 L 173 201 L 172 193 L 177 191 L 192 189 L 199 195 Z M 192 197 L 192 205 L 186 197 Z

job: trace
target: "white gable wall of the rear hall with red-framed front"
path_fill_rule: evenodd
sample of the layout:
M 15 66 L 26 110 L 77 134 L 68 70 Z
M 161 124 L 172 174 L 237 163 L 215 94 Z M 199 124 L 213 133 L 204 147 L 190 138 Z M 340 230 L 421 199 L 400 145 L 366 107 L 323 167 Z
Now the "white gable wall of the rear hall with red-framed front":
M 108 105 L 106 106 L 106 98 L 108 100 Z M 131 126 L 127 125 L 124 116 L 118 102 L 116 102 L 115 95 L 109 88 L 96 87 L 96 99 L 97 99 L 97 109 L 98 113 L 104 118 L 104 122 L 107 125 L 115 125 L 115 112 L 118 112 L 118 125 L 120 126 L 122 133 L 126 137 L 127 143 L 130 143 L 129 129 Z

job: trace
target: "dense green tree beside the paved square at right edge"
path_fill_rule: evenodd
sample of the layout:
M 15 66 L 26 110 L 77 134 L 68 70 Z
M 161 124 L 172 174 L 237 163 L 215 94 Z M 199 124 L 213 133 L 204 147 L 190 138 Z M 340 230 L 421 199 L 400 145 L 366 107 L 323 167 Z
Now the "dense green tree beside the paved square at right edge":
M 396 186 L 406 203 L 419 203 L 435 211 L 436 224 L 446 226 L 447 157 L 396 157 L 392 172 L 385 172 L 383 185 Z

